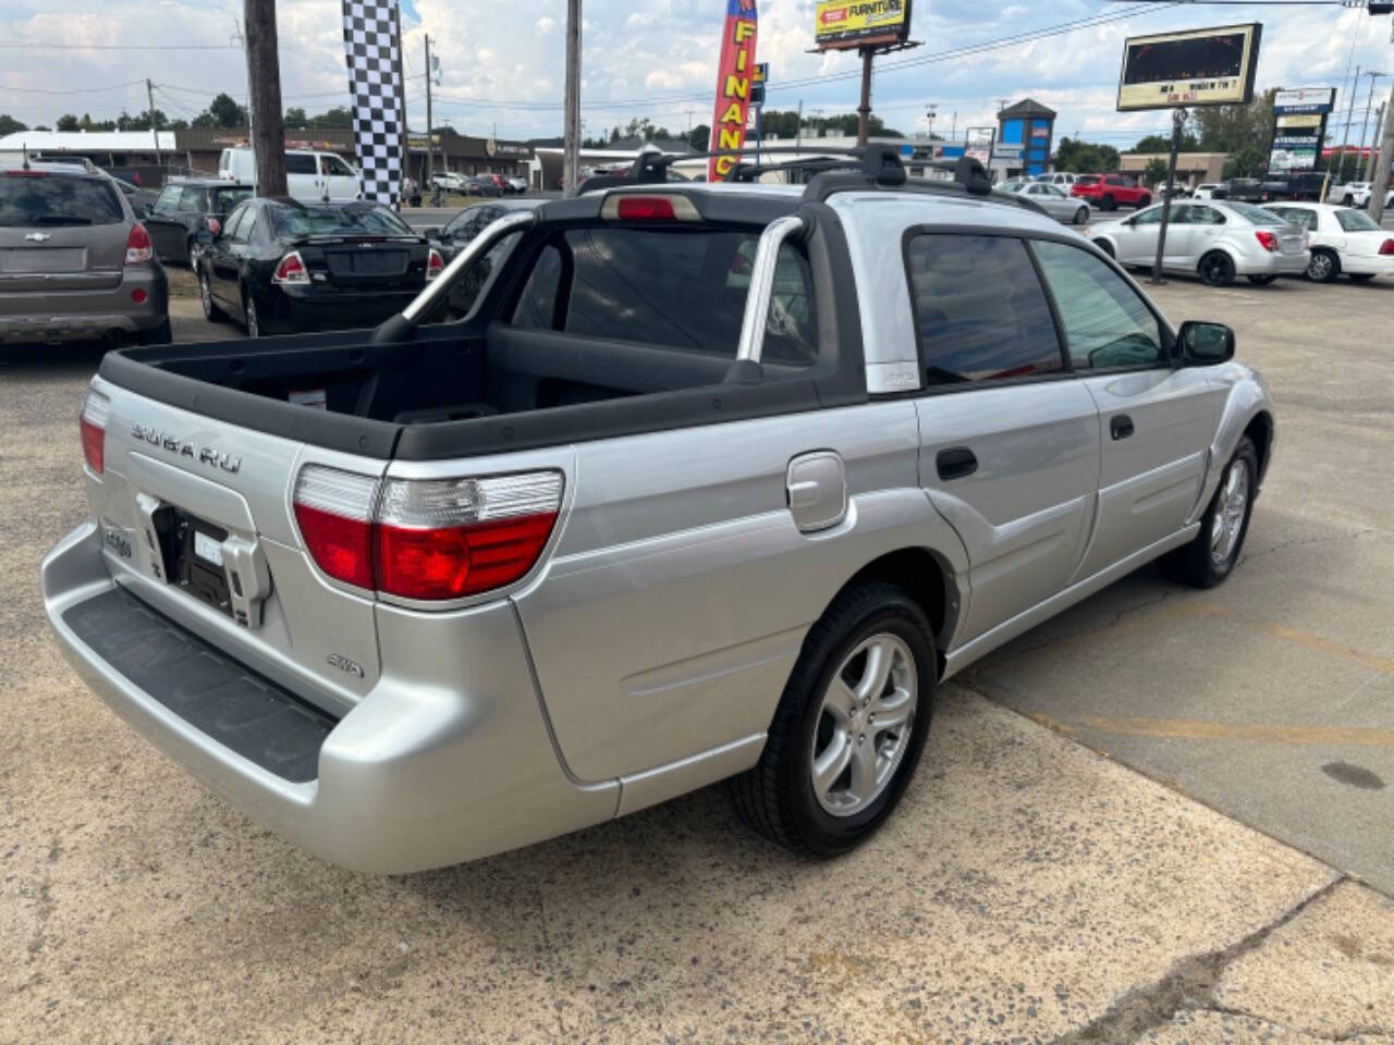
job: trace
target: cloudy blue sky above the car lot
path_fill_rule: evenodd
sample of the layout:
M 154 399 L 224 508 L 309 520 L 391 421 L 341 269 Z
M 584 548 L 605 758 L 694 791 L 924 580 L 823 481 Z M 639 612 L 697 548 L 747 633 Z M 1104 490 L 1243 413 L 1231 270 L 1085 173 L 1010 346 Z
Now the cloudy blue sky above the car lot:
M 435 123 L 499 138 L 560 132 L 565 0 L 401 0 L 408 120 L 425 124 L 424 38 L 441 57 Z M 669 130 L 711 123 L 725 0 L 583 0 L 581 117 L 597 135 L 633 117 Z M 769 109 L 852 111 L 857 57 L 811 54 L 813 0 L 761 0 L 757 57 L 769 63 Z M 0 113 L 52 125 L 63 113 L 116 117 L 155 104 L 185 118 L 226 91 L 245 99 L 233 42 L 238 0 L 0 0 Z M 1111 21 L 1103 21 L 1111 20 Z M 1055 109 L 1057 138 L 1131 146 L 1165 131 L 1164 113 L 1114 111 L 1125 36 L 1262 21 L 1257 85 L 1342 86 L 1355 65 L 1394 72 L 1390 17 L 1328 6 L 1206 6 L 1121 0 L 914 0 L 923 46 L 878 60 L 873 110 L 905 132 L 990 125 L 1001 102 Z M 1083 22 L 1083 24 L 1080 24 Z M 282 93 L 308 113 L 347 103 L 340 0 L 280 0 Z M 1011 46 L 979 47 L 1072 24 Z M 896 63 L 907 63 L 892 68 Z M 1376 106 L 1391 79 L 1377 81 Z M 1370 79 L 1355 93 L 1361 134 Z M 1340 139 L 1348 89 L 1333 118 Z M 1373 120 L 1373 111 L 1370 113 Z

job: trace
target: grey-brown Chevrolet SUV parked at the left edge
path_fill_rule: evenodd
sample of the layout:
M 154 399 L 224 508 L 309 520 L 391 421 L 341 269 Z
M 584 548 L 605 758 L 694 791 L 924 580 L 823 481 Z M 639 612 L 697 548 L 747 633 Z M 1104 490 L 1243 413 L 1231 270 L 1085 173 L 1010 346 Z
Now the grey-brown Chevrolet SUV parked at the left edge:
M 110 176 L 0 160 L 0 344 L 167 344 L 169 281 Z

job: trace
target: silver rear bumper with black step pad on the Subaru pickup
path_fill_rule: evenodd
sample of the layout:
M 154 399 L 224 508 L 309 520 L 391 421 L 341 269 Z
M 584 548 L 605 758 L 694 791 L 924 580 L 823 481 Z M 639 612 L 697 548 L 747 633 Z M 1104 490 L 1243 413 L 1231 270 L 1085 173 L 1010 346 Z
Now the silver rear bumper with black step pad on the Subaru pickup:
M 137 732 L 297 846 L 404 874 L 615 815 L 618 783 L 579 786 L 556 758 L 512 603 L 381 607 L 382 679 L 335 722 L 163 617 L 137 628 L 141 656 L 103 656 L 114 641 L 100 634 L 103 613 L 155 614 L 134 595 L 113 596 L 100 546 L 89 521 L 43 560 L 45 610 L 68 662 Z M 204 686 L 169 670 L 180 658 L 219 666 Z

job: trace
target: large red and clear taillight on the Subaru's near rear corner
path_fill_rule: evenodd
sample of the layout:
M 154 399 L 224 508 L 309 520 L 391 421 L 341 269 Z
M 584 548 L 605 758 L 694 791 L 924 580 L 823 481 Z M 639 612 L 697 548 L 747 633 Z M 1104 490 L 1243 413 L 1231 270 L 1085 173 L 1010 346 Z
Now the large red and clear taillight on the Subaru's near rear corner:
M 296 520 L 319 567 L 360 588 L 442 601 L 502 588 L 537 564 L 562 507 L 555 471 L 386 479 L 307 465 Z

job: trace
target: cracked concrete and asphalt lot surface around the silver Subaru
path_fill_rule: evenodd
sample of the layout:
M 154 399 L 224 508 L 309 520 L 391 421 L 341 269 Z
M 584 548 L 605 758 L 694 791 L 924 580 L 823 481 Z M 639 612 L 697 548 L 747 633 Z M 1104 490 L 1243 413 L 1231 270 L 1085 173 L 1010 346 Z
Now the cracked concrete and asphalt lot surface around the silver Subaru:
M 1154 293 L 1278 403 L 1245 560 L 944 687 L 834 862 L 715 789 L 407 878 L 296 851 L 59 656 L 38 563 L 85 514 L 100 348 L 0 357 L 0 1042 L 1394 1039 L 1394 281 Z

